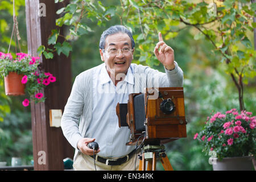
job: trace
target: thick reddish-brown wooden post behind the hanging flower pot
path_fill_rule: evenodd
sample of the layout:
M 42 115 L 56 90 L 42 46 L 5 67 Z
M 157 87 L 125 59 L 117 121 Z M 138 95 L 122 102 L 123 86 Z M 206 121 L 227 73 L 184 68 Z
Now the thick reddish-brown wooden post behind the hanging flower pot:
M 45 16 L 40 16 L 39 5 L 46 7 Z M 32 56 L 38 56 L 36 51 L 39 46 L 48 47 L 47 39 L 51 30 L 56 28 L 56 11 L 61 5 L 55 4 L 55 1 L 26 0 L 27 44 L 28 53 Z M 44 71 L 56 77 L 56 82 L 42 90 L 46 97 L 44 103 L 31 103 L 34 169 L 63 170 L 63 159 L 73 158 L 74 149 L 64 138 L 60 127 L 49 126 L 49 110 L 64 110 L 72 87 L 71 59 L 55 54 L 52 60 L 42 56 L 40 61 Z

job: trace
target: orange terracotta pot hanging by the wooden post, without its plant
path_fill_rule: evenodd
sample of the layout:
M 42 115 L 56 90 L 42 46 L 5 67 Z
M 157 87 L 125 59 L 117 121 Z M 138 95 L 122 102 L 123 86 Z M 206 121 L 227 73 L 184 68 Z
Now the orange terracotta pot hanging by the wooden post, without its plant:
M 22 84 L 22 77 L 15 72 L 10 72 L 5 77 L 5 94 L 7 96 L 20 96 L 25 94 L 25 85 Z

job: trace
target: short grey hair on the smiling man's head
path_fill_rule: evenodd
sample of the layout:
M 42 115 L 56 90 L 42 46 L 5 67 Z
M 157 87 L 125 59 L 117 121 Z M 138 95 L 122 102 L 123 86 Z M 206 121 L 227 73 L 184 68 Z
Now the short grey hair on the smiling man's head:
M 127 34 L 130 37 L 130 39 L 131 39 L 131 48 L 133 49 L 135 47 L 133 34 L 131 34 L 131 31 L 128 30 L 125 26 L 122 26 L 122 25 L 115 25 L 115 26 L 109 27 L 107 30 L 105 30 L 101 34 L 101 39 L 100 39 L 100 44 L 99 44 L 100 49 L 105 48 L 105 40 L 106 40 L 106 37 L 108 35 L 117 34 L 119 32 L 123 32 L 123 33 Z

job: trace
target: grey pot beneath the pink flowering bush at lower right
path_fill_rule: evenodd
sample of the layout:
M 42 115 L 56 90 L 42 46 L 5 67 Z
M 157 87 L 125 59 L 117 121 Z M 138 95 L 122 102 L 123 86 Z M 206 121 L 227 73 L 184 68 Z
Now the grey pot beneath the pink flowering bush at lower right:
M 251 171 L 253 169 L 251 156 L 214 159 L 216 164 L 213 164 L 213 171 Z

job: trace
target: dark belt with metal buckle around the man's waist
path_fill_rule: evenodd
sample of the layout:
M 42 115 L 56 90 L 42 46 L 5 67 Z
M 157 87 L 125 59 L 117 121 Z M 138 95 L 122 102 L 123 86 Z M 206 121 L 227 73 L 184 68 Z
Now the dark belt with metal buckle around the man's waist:
M 118 166 L 121 165 L 123 163 L 126 163 L 129 159 L 131 159 L 133 157 L 133 155 L 135 154 L 136 150 L 131 151 L 130 154 L 126 155 L 123 158 L 117 158 L 117 159 L 106 159 L 106 158 L 101 158 L 100 156 L 95 157 L 95 160 L 101 163 L 104 163 L 108 166 Z M 90 157 L 93 158 L 93 155 L 90 155 Z

